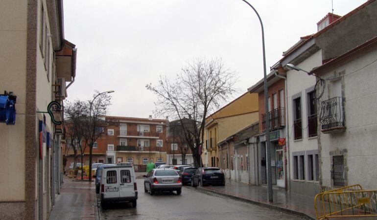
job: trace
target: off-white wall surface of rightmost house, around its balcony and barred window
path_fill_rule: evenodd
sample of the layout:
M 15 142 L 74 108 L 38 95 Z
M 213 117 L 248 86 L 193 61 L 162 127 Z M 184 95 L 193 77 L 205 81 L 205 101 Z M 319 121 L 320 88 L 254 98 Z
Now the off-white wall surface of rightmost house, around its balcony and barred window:
M 365 189 L 377 188 L 377 62 L 371 64 L 376 61 L 376 57 L 377 46 L 374 46 L 367 53 L 353 56 L 352 60 L 329 69 L 322 76 L 327 79 L 333 77 L 334 72 L 344 71 L 342 86 L 346 98 L 346 131 L 321 134 L 324 186 L 331 187 L 330 151 L 346 149 L 348 185 L 361 184 Z M 329 86 L 330 83 L 327 83 Z M 327 98 L 328 90 L 325 89 L 322 99 Z

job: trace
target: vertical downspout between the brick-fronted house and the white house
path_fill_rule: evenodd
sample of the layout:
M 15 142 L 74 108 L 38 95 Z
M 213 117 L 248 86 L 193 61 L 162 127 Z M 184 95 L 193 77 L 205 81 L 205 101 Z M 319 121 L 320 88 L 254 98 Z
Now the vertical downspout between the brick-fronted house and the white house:
M 285 86 L 285 128 L 286 128 L 286 134 L 285 134 L 285 149 L 286 149 L 286 155 L 285 155 L 285 160 L 287 161 L 285 164 L 284 161 L 284 166 L 285 166 L 285 190 L 289 191 L 290 190 L 290 163 L 289 163 L 289 126 L 288 126 L 288 85 L 287 85 L 287 78 L 284 76 L 279 75 L 278 71 L 275 72 L 275 76 L 284 79 L 284 86 Z

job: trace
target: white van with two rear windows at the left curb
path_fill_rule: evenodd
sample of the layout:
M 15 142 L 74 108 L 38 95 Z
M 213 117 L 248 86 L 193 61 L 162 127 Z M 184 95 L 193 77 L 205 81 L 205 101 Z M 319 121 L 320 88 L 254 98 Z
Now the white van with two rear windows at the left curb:
M 129 201 L 136 207 L 138 188 L 134 168 L 130 165 L 104 167 L 101 172 L 101 205 L 110 201 Z

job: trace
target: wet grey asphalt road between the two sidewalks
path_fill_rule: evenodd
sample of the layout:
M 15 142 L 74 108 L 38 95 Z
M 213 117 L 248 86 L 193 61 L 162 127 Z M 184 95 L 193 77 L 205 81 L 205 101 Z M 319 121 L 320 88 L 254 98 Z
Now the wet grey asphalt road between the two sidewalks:
M 144 179 L 137 179 L 138 205 L 112 203 L 107 209 L 100 207 L 101 220 L 295 220 L 300 217 L 260 207 L 213 193 L 202 193 L 184 186 L 182 194 L 144 193 Z

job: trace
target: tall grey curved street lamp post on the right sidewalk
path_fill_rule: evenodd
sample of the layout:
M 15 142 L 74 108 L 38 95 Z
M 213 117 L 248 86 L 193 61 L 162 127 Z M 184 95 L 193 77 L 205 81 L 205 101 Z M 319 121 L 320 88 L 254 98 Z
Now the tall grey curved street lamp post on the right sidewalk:
M 268 201 L 272 202 L 272 172 L 271 172 L 271 149 L 270 149 L 270 123 L 269 123 L 269 118 L 270 116 L 268 115 L 268 91 L 267 91 L 267 73 L 266 73 L 266 53 L 265 53 L 265 48 L 264 48 L 264 30 L 263 30 L 263 23 L 262 20 L 260 19 L 260 16 L 257 12 L 257 10 L 251 5 L 249 2 L 246 0 L 242 0 L 246 4 L 248 4 L 254 12 L 257 14 L 259 22 L 260 22 L 260 27 L 262 29 L 262 49 L 263 49 L 263 74 L 264 74 L 264 108 L 265 108 L 265 114 L 266 114 L 266 157 L 267 157 L 267 192 L 268 192 Z

